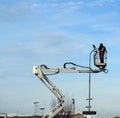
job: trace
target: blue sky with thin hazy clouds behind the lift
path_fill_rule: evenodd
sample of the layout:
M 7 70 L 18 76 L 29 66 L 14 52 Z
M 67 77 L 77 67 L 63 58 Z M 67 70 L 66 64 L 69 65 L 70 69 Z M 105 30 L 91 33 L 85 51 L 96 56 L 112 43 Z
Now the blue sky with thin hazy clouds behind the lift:
M 53 95 L 32 74 L 34 65 L 88 65 L 92 44 L 108 51 L 108 74 L 92 75 L 92 110 L 120 115 L 119 0 L 0 0 L 0 112 L 34 114 L 34 101 L 50 108 Z M 88 74 L 50 79 L 76 111 L 86 110 Z

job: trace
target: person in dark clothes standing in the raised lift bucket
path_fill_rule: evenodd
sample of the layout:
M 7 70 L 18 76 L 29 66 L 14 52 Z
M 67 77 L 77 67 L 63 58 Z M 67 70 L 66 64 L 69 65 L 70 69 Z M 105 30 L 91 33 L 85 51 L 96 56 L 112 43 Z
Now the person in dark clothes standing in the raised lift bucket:
M 100 63 L 104 63 L 104 54 L 107 53 L 106 47 L 103 45 L 103 43 L 100 43 L 100 46 L 98 48 L 99 50 L 99 56 L 100 56 Z

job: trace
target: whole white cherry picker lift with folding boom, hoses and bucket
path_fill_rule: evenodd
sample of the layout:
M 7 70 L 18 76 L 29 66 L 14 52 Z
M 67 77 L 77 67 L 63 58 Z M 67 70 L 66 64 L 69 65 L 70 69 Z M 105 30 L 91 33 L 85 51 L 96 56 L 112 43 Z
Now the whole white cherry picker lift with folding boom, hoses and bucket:
M 99 73 L 99 72 L 107 73 L 107 69 L 105 69 L 107 65 L 107 56 L 105 56 L 104 63 L 100 63 L 98 50 L 95 47 L 90 52 L 90 56 L 92 53 L 94 53 L 93 60 L 94 60 L 94 65 L 97 67 L 97 69 L 92 69 L 90 65 L 86 67 L 86 66 L 77 65 L 72 62 L 64 63 L 63 68 L 48 68 L 44 64 L 41 66 L 33 66 L 33 74 L 35 74 L 43 82 L 43 84 L 57 97 L 59 101 L 59 103 L 54 108 L 52 108 L 50 112 L 48 112 L 45 116 L 43 116 L 43 118 L 54 117 L 64 108 L 64 103 L 65 103 L 65 96 L 48 78 L 49 75 L 59 74 L 59 73 Z M 72 65 L 74 67 L 68 68 L 67 65 Z M 79 70 L 76 69 L 76 67 L 81 67 L 84 69 Z

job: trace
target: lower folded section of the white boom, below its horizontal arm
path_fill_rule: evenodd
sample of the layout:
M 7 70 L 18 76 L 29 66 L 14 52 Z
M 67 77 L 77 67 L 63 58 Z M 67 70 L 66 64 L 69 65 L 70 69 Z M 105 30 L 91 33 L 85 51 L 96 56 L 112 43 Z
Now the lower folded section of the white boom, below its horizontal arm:
M 58 98 L 59 103 L 43 118 L 52 118 L 64 108 L 64 95 L 62 92 L 48 79 L 39 66 L 33 67 L 33 73 L 43 82 L 43 84 Z

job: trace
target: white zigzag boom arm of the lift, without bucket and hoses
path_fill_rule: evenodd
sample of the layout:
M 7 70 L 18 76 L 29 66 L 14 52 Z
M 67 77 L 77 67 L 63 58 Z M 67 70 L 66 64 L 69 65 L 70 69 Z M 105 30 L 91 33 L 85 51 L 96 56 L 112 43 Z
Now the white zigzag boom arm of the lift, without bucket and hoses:
M 64 95 L 62 92 L 48 79 L 49 73 L 97 73 L 101 70 L 76 70 L 70 68 L 42 68 L 40 66 L 33 66 L 33 73 L 48 87 L 48 89 L 58 98 L 59 103 L 43 118 L 52 118 L 64 108 Z M 47 73 L 47 74 L 45 74 Z

